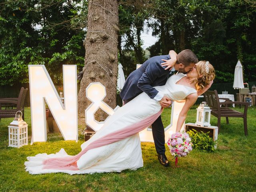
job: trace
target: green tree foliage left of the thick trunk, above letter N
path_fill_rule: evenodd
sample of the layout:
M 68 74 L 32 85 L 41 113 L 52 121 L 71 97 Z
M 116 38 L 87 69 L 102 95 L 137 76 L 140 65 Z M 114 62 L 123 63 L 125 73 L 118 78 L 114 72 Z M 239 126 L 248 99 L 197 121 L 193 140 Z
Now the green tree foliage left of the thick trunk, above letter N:
M 44 64 L 54 83 L 62 82 L 62 64 L 84 65 L 86 33 L 78 12 L 81 1 L 4 0 L 0 3 L 0 85 L 28 82 L 28 65 Z M 86 19 L 85 19 L 86 20 Z

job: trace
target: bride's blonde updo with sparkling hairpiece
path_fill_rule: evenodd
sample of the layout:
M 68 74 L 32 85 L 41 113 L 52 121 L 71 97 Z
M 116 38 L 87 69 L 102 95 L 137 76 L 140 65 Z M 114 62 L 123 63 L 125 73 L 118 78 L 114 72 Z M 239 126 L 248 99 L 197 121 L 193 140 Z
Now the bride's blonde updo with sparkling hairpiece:
M 196 64 L 196 71 L 198 73 L 198 78 L 195 80 L 197 90 L 204 89 L 215 78 L 214 67 L 208 61 L 199 61 Z

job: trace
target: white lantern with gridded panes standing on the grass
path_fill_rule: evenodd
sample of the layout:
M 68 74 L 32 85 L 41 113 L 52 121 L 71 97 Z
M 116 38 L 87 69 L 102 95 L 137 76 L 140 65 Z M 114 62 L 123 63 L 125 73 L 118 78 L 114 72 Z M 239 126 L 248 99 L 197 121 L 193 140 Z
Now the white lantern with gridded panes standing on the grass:
M 8 126 L 9 128 L 9 147 L 21 147 L 28 144 L 28 124 L 22 120 L 21 115 L 15 114 L 14 120 Z

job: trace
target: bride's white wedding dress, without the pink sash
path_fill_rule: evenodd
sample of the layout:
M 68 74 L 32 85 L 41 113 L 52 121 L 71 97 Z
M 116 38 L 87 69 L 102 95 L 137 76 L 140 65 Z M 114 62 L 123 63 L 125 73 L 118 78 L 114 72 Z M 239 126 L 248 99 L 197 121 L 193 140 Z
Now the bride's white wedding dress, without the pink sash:
M 171 76 L 164 86 L 156 86 L 156 90 L 162 92 L 172 100 L 182 100 L 189 94 L 196 93 L 194 88 L 176 84 L 183 78 L 180 73 Z M 90 140 L 81 145 L 82 150 L 92 141 L 102 136 L 123 129 L 127 126 L 140 122 L 142 119 L 156 114 L 161 109 L 159 102 L 151 99 L 146 93 L 141 93 L 136 98 L 119 108 L 106 122 L 104 126 L 94 134 Z M 42 162 L 48 158 L 69 156 L 62 148 L 56 154 L 37 154 L 27 157 L 25 162 L 26 171 L 30 174 L 45 174 L 64 172 L 68 174 L 85 174 L 96 172 L 121 172 L 122 170 L 136 170 L 143 166 L 142 152 L 139 134 L 126 139 L 88 150 L 77 161 L 79 170 L 54 170 L 43 169 Z

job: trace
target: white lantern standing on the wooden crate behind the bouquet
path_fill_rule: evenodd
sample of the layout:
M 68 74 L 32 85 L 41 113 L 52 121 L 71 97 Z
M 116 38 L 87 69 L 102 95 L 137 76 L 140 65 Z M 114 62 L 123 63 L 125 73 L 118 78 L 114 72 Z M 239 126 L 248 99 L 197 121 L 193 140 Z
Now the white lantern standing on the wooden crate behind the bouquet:
M 196 125 L 210 126 L 211 110 L 206 102 L 202 102 L 196 110 Z

